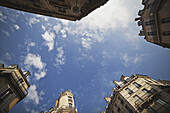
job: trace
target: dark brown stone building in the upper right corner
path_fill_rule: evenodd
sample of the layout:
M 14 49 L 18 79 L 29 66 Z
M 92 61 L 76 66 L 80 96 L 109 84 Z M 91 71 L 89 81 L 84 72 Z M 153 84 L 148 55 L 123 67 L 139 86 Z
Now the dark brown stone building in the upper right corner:
M 140 36 L 148 42 L 170 48 L 170 0 L 142 0 L 144 8 L 139 10 Z

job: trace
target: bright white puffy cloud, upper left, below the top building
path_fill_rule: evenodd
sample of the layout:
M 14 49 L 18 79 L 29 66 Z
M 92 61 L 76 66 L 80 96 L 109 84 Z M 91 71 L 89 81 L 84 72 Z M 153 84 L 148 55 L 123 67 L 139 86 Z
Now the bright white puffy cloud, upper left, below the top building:
M 53 50 L 55 34 L 53 32 L 46 31 L 44 34 L 42 34 L 42 37 L 46 41 L 45 45 L 48 46 L 48 51 Z

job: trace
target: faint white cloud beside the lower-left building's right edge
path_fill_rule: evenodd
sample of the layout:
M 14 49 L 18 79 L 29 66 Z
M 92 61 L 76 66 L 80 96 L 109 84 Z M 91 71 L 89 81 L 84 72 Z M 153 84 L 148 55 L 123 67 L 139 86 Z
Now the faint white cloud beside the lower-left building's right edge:
M 35 84 L 31 85 L 30 88 L 28 89 L 28 95 L 26 97 L 25 102 L 27 103 L 30 100 L 33 101 L 36 105 L 39 104 L 40 99 L 39 99 L 37 87 Z

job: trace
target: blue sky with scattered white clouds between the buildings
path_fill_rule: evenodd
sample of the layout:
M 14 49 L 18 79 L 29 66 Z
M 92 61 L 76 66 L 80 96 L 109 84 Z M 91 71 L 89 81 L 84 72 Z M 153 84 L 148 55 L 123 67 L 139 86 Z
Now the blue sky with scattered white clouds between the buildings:
M 0 7 L 0 62 L 29 70 L 29 94 L 10 113 L 38 113 L 71 89 L 79 113 L 104 110 L 122 74 L 170 80 L 170 50 L 139 37 L 140 0 L 110 0 L 80 21 Z

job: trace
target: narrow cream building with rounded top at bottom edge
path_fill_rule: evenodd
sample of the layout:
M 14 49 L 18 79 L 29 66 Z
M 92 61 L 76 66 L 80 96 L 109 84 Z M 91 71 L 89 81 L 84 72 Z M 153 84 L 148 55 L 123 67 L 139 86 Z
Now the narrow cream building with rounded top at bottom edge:
M 77 109 L 75 109 L 74 95 L 71 90 L 65 90 L 60 93 L 55 107 L 51 107 L 48 112 L 42 111 L 41 113 L 78 113 Z

